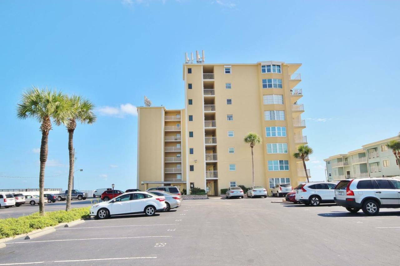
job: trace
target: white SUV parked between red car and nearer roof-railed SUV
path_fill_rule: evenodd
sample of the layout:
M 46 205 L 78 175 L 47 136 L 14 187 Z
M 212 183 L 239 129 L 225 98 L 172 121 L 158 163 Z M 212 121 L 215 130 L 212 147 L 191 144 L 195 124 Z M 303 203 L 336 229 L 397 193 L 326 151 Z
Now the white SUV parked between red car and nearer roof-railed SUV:
M 321 203 L 334 203 L 334 188 L 331 182 L 312 182 L 296 189 L 296 200 L 300 203 L 318 206 Z

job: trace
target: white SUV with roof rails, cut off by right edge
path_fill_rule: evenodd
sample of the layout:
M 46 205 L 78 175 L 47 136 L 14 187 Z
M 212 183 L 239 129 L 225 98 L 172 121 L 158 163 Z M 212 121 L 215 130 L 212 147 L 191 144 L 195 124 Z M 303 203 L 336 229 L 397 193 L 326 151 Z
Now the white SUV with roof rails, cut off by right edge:
M 367 215 L 376 215 L 380 208 L 400 208 L 400 181 L 387 177 L 345 179 L 336 185 L 334 200 L 349 212 L 362 209 Z

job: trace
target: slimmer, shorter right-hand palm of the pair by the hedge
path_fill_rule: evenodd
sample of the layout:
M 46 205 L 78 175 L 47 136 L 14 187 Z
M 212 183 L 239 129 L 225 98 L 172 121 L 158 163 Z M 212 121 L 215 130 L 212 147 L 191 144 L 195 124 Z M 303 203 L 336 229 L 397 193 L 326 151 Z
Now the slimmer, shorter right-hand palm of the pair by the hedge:
M 74 179 L 74 131 L 76 129 L 76 121 L 82 124 L 93 124 L 96 122 L 96 115 L 93 113 L 94 104 L 87 99 L 83 99 L 80 96 L 72 95 L 67 96 L 66 99 L 72 106 L 72 112 L 65 125 L 68 131 L 68 151 L 70 156 L 70 171 L 68 175 L 68 195 L 66 211 L 71 208 L 71 192 L 72 192 L 72 181 Z

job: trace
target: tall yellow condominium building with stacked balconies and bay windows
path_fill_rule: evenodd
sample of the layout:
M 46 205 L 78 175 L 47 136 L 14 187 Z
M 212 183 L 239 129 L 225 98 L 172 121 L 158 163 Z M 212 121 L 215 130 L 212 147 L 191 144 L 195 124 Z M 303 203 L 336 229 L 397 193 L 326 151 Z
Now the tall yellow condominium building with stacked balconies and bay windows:
M 304 182 L 302 162 L 292 157 L 307 143 L 302 90 L 294 89 L 300 66 L 184 64 L 184 109 L 138 107 L 138 188 L 200 187 L 219 195 L 252 186 L 251 150 L 243 141 L 248 132 L 262 137 L 254 147 L 255 185 L 270 193 L 276 184 Z

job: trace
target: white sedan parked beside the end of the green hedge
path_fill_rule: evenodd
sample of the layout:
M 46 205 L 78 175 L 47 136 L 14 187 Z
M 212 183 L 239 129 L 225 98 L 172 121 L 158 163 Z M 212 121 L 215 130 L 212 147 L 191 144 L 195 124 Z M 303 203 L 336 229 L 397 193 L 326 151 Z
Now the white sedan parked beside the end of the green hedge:
M 112 215 L 139 214 L 152 216 L 166 208 L 165 197 L 147 192 L 124 193 L 114 199 L 103 201 L 90 208 L 90 216 L 105 219 Z

